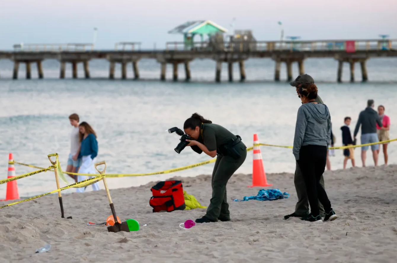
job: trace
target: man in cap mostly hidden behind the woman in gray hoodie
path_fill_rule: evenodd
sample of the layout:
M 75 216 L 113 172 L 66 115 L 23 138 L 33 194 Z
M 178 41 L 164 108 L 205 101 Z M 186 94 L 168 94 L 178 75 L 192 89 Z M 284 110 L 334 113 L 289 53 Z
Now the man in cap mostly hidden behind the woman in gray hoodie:
M 295 79 L 295 81 L 292 81 L 289 84 L 295 87 L 298 93 L 298 88 L 304 83 L 314 84 L 314 79 L 310 75 L 303 74 L 303 75 L 299 75 Z M 318 95 L 315 102 L 317 102 L 318 104 L 324 104 L 324 102 L 321 100 L 320 96 Z M 295 167 L 294 184 L 295 184 L 295 189 L 297 191 L 298 202 L 295 206 L 295 212 L 290 215 L 285 215 L 284 219 L 289 219 L 290 217 L 304 217 L 309 214 L 309 200 L 307 198 L 306 185 L 304 183 L 304 178 L 298 163 L 296 163 L 296 167 Z M 321 176 L 320 178 L 320 184 L 325 189 L 323 176 Z M 320 201 L 318 202 L 318 208 L 320 209 L 321 217 L 324 217 L 324 207 Z

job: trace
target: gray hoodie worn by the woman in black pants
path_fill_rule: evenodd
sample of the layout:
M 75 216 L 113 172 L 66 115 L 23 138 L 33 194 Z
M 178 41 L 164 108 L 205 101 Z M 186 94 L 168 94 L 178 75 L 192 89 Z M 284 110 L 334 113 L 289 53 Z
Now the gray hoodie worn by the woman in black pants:
M 299 160 L 305 145 L 328 146 L 331 143 L 331 115 L 325 104 L 306 103 L 298 109 L 292 153 Z

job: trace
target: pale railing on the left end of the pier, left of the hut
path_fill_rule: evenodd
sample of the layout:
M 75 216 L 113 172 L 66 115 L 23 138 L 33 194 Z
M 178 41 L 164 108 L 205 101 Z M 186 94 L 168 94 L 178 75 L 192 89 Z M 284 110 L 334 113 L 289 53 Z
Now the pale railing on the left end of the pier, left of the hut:
M 13 45 L 16 52 L 61 52 L 61 51 L 81 51 L 86 52 L 94 50 L 92 43 L 66 43 L 66 44 L 15 44 Z

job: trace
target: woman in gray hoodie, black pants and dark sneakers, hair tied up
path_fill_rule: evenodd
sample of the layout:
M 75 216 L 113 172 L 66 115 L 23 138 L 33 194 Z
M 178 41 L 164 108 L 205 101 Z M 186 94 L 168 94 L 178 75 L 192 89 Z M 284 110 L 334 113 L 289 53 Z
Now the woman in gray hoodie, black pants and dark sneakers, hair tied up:
M 306 184 L 311 213 L 302 220 L 321 221 L 318 200 L 324 206 L 324 221 L 333 221 L 337 215 L 331 208 L 327 193 L 320 185 L 327 162 L 328 145 L 331 142 L 331 116 L 325 104 L 315 102 L 317 86 L 303 84 L 298 90 L 302 106 L 298 109 L 293 154 L 302 171 Z

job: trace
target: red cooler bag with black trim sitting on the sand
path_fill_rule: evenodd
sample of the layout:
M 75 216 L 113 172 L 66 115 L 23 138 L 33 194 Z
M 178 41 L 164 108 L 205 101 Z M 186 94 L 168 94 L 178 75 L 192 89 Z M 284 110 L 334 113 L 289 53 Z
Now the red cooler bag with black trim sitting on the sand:
M 153 196 L 150 198 L 149 204 L 153 207 L 153 212 L 172 212 L 184 210 L 186 207 L 182 181 L 159 182 L 150 191 Z

